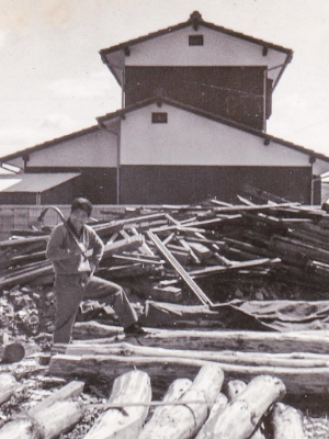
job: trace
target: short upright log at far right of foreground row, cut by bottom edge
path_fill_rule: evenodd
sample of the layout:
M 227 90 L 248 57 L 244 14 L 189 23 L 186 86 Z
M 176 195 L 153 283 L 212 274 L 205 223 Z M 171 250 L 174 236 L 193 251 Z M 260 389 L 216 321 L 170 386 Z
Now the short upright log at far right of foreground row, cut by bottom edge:
M 274 404 L 271 423 L 273 439 L 306 439 L 302 413 L 283 403 Z

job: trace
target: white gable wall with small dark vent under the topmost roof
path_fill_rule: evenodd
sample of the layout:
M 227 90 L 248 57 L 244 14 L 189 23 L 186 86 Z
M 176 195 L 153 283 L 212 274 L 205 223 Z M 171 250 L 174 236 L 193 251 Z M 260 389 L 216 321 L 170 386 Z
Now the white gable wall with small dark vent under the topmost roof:
M 203 46 L 189 46 L 189 35 L 204 35 Z M 262 46 L 200 25 L 197 31 L 184 27 L 160 37 L 129 46 L 126 66 L 280 66 L 286 54 L 269 48 L 262 55 Z M 121 50 L 123 53 L 123 50 Z M 111 64 L 117 63 L 117 53 L 109 54 Z M 281 68 L 269 71 L 276 80 Z

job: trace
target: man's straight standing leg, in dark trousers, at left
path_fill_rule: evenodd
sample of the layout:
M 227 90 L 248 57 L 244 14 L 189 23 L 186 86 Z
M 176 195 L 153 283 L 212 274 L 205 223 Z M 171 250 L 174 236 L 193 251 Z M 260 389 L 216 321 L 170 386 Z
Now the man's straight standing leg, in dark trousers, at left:
M 54 344 L 69 344 L 77 312 L 83 299 L 81 275 L 57 275 L 55 279 L 55 295 Z

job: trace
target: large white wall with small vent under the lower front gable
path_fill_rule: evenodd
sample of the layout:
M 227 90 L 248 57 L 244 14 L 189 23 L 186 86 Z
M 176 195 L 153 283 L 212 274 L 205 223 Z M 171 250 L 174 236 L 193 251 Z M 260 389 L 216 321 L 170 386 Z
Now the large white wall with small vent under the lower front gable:
M 152 112 L 168 123 L 152 124 Z M 122 165 L 310 166 L 307 154 L 168 104 L 128 113 L 121 139 Z

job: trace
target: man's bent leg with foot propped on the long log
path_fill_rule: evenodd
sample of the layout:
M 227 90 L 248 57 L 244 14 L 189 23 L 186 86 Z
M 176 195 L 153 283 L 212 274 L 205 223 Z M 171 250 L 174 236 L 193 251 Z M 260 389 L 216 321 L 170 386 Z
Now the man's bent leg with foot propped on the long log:
M 124 328 L 129 327 L 138 320 L 137 314 L 132 307 L 123 288 L 114 282 L 95 275 L 89 278 L 86 283 L 83 299 L 98 299 L 100 302 L 112 306 Z

